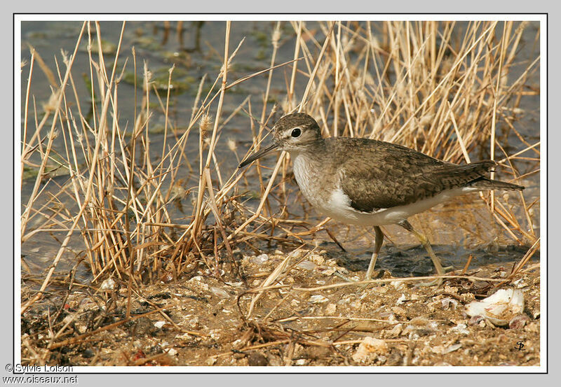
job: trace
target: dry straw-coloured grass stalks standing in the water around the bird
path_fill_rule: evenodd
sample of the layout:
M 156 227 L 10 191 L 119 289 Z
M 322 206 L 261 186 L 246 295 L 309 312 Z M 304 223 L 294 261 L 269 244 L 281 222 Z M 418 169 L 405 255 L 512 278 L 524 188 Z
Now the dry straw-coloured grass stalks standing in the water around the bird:
M 98 23 L 83 24 L 76 49 L 64 55 L 54 71 L 31 50 L 29 63 L 22 68 L 22 73 L 29 71 L 29 83 L 23 102 L 21 164 L 22 170 L 32 167 L 37 174 L 32 195 L 22 203 L 21 241 L 38 233 L 62 232 L 64 237 L 40 288 L 22 295 L 22 313 L 46 295 L 73 238 L 83 241 L 85 248 L 76 259 L 88 265 L 94 286 L 108 277 L 120 279 L 128 284 L 130 300 L 141 283 L 157 281 L 163 275 L 177 279 L 200 265 L 221 277 L 227 262 L 232 275 L 243 279 L 237 264 L 241 246 L 259 251 L 259 244 L 271 239 L 301 246 L 310 243 L 304 239 L 306 235 L 326 230 L 326 220 L 314 225 L 288 214 L 288 155 L 279 157 L 272 173 L 255 162 L 261 194 L 257 208 L 249 206 L 247 197 L 239 193 L 248 190 L 245 174 L 252 169 L 227 170 L 231 172 L 227 176 L 220 168 L 217 143 L 227 141 L 220 134 L 231 119 L 222 114 L 224 97 L 234 84 L 258 74 L 267 76 L 259 113 L 254 118 L 249 96 L 234 112 L 250 117 L 254 149 L 266 136 L 265 127 L 271 127 L 278 115 L 306 111 L 318 119 L 325 136 L 392 141 L 458 163 L 483 155 L 499 162 L 502 180 L 514 183 L 539 171 L 539 141 L 528 141 L 513 125 L 524 113 L 520 108 L 523 97 L 539 94 L 528 84 L 529 77 L 539 71 L 539 55 L 524 63 L 518 59 L 527 23 L 320 22 L 313 30 L 304 22 L 290 25 L 293 36 L 283 36 L 280 23 L 271 31 L 268 69 L 234 80 L 229 71 L 238 48 L 231 44 L 227 23 L 222 69 L 213 79 L 201 80 L 191 119 L 182 131 L 167 119 L 170 87 L 167 95 L 158 92 L 151 83 L 150 69 L 141 64 L 134 48 L 121 47 L 122 36 L 116 55 L 109 58 L 97 43 L 102 37 Z M 123 31 L 125 28 L 123 23 Z M 294 57 L 279 65 L 278 47 L 286 41 L 295 42 Z M 88 50 L 79 52 L 84 42 Z M 93 101 L 91 120 L 80 108 L 86 97 L 76 90 L 76 72 L 83 72 L 74 69 L 76 55 L 88 55 L 94 85 L 89 96 Z M 29 106 L 34 101 L 36 64 L 53 90 L 42 112 L 35 102 Z M 144 66 L 144 76 L 135 80 L 135 120 L 130 127 L 121 127 L 119 83 L 123 71 L 131 66 L 135 73 Z M 513 77 L 511 69 L 520 66 L 523 70 Z M 169 84 L 173 71 L 171 67 Z M 276 71 L 290 73 L 281 106 L 263 103 L 269 99 Z M 299 91 L 298 85 L 304 84 L 304 92 Z M 154 101 L 166 117 L 160 157 L 154 157 L 151 149 Z M 34 128 L 27 125 L 31 115 L 35 116 Z M 513 137 L 518 139 L 515 146 Z M 197 160 L 187 157 L 188 141 L 198 142 Z M 231 150 L 236 153 L 235 143 Z M 64 183 L 53 178 L 53 165 L 55 171 L 68 176 Z M 198 185 L 187 192 L 178 173 L 184 165 L 198 173 Z M 508 174 L 511 178 L 506 178 Z M 46 190 L 53 185 L 58 189 L 54 195 Z M 172 218 L 170 204 L 189 193 L 194 195 L 191 216 L 187 221 Z M 513 241 L 532 246 L 527 262 L 539 248 L 531 215 L 539 199 L 527 203 L 524 195 L 520 192 L 508 202 L 498 195 L 481 197 Z M 515 209 L 523 211 L 517 215 Z M 278 276 L 288 271 L 287 265 L 280 267 L 264 281 L 263 288 L 278 283 Z M 77 286 L 73 275 L 65 279 L 69 289 Z

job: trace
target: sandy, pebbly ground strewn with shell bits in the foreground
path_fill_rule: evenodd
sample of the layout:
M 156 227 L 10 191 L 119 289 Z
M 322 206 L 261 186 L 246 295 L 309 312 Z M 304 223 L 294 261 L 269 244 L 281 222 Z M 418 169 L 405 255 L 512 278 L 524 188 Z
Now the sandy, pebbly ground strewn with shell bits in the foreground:
M 276 251 L 241 260 L 246 283 L 221 281 L 202 266 L 177 280 L 164 274 L 133 292 L 133 319 L 125 323 L 126 283 L 79 288 L 22 315 L 22 363 L 539 365 L 539 262 L 501 283 L 513 263 L 467 271 L 496 281 L 454 278 L 438 287 L 379 270 L 378 282 L 364 289 L 343 279 L 362 279 L 364 270 L 349 271 L 330 253 Z M 522 311 L 502 316 L 505 326 L 466 314 L 466 305 L 499 289 L 520 290 L 524 298 Z

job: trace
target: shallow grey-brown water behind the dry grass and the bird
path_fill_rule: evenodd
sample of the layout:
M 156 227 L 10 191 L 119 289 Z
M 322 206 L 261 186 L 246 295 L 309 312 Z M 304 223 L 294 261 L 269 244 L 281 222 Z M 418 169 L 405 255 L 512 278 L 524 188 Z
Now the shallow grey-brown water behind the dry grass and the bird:
M 119 40 L 121 31 L 120 22 L 101 22 L 102 38 L 107 45 L 116 45 Z M 174 79 L 177 80 L 177 87 L 172 94 L 173 104 L 170 106 L 171 125 L 178 130 L 186 127 L 191 116 L 191 106 L 196 93 L 199 80 L 203 74 L 208 73 L 210 78 L 218 73 L 221 65 L 221 52 L 223 51 L 224 41 L 224 23 L 223 22 L 185 22 L 182 35 L 178 35 L 175 31 L 176 23 L 171 24 L 170 30 L 165 31 L 163 22 L 128 22 L 126 24 L 125 34 L 123 38 L 122 57 L 128 57 L 130 60 L 130 50 L 134 46 L 137 55 L 137 76 L 142 78 L 142 62 L 146 61 L 155 77 L 165 78 L 167 81 L 168 69 L 172 63 L 177 65 Z M 269 66 L 270 56 L 272 52 L 270 37 L 273 30 L 274 22 L 233 22 L 231 26 L 231 48 L 235 48 L 244 37 L 245 41 L 241 45 L 238 54 L 233 62 L 229 72 L 229 80 L 241 78 L 248 73 L 265 69 Z M 22 59 L 29 60 L 29 50 L 27 44 L 31 44 L 40 53 L 46 64 L 55 69 L 54 57 L 57 57 L 61 64 L 60 50 L 72 52 L 76 44 L 76 37 L 79 34 L 81 22 L 24 22 L 22 23 Z M 527 43 L 523 45 L 527 49 L 527 57 L 529 59 L 535 54 L 535 48 L 532 47 L 532 39 L 535 36 L 536 25 L 532 25 L 527 29 Z M 295 34 L 290 25 L 285 24 L 283 27 L 283 35 L 281 36 L 281 44 L 278 50 L 276 63 L 285 62 L 292 59 L 293 42 Z M 81 54 L 76 58 L 74 63 L 74 76 L 77 76 L 81 69 L 84 73 L 89 73 L 88 56 L 85 52 L 85 46 L 81 47 Z M 127 67 L 123 82 L 119 84 L 119 106 L 121 116 L 119 122 L 122 127 L 130 127 L 130 122 L 134 119 L 134 86 L 129 83 L 132 75 L 130 64 Z M 22 104 L 25 97 L 25 87 L 27 86 L 27 74 L 29 66 L 22 70 Z M 517 72 L 518 71 L 518 72 Z M 520 70 L 513 69 L 511 76 L 513 78 L 520 75 Z M 290 77 L 290 68 L 276 71 L 273 76 L 271 85 L 271 97 L 269 108 L 273 106 L 273 102 L 280 103 L 285 97 L 285 77 Z M 539 71 L 536 73 L 539 77 Z M 302 77 L 302 79 L 304 79 Z M 212 80 L 211 80 L 212 81 Z M 83 95 L 88 95 L 86 83 L 80 79 L 75 79 L 76 87 Z M 297 95 L 302 94 L 305 83 L 297 83 Z M 252 96 L 253 114 L 259 116 L 262 105 L 261 99 L 266 87 L 266 77 L 257 76 L 244 82 L 238 87 L 234 87 L 227 93 L 224 101 L 224 109 L 222 116 L 229 116 L 234 109 L 248 95 Z M 50 96 L 48 80 L 41 71 L 36 69 L 32 79 L 32 95 L 35 97 L 38 105 L 41 101 L 45 101 Z M 165 96 L 165 94 L 162 94 Z M 154 97 L 151 97 L 154 98 Z M 87 112 L 91 110 L 90 102 L 87 97 L 80 99 L 83 101 L 81 108 Z M 155 100 L 155 98 L 154 98 Z M 535 98 L 526 98 L 525 105 L 522 106 L 527 113 L 520 122 L 516 122 L 515 126 L 520 133 L 529 141 L 534 143 L 539 139 L 539 95 Z M 163 133 L 159 133 L 165 123 L 164 116 L 154 108 L 150 125 L 154 133 L 151 136 L 151 150 L 154 157 L 161 154 L 161 146 L 163 145 Z M 248 129 L 248 118 L 245 115 L 235 115 L 229 124 L 224 127 L 217 146 L 217 155 L 221 157 L 220 166 L 223 176 L 230 176 L 236 169 L 237 164 L 246 150 L 251 144 L 251 133 Z M 34 117 L 29 117 L 28 125 L 34 127 Z M 514 136 L 510 133 L 509 136 Z M 237 150 L 233 153 L 227 146 L 227 140 L 233 139 L 236 142 Z M 171 142 L 170 142 L 171 141 Z M 173 146 L 173 139 L 168 139 L 168 145 Z M 62 150 L 62 142 L 55 144 L 55 148 Z M 512 150 L 508 150 L 511 152 Z M 198 157 L 198 146 L 196 141 L 191 141 L 187 146 L 187 156 L 196 160 Z M 479 155 L 475 155 L 475 158 Z M 263 164 L 273 165 L 274 157 L 266 157 Z M 33 160 L 32 161 L 37 161 Z M 522 172 L 523 173 L 523 172 Z M 255 171 L 248 171 L 248 179 L 250 186 L 247 189 L 255 189 L 258 187 L 255 180 Z M 46 187 L 53 193 L 64 185 L 68 176 L 59 176 L 54 178 Z M 182 169 L 181 176 L 185 183 L 185 188 L 193 188 L 198 181 L 198 171 L 189 173 L 187 167 Z M 255 183 L 255 185 L 252 185 Z M 26 179 L 22 184 L 22 209 L 32 191 L 34 178 Z M 530 176 L 524 182 L 527 185 L 525 190 L 525 198 L 527 202 L 532 202 L 539 197 L 539 176 Z M 318 223 L 322 217 L 315 211 L 310 211 L 307 204 L 302 203 L 302 197 L 297 191 L 295 185 L 290 186 L 292 193 L 289 203 L 293 203 L 292 208 L 288 209 L 290 213 L 302 216 L 306 213 L 309 222 L 313 225 Z M 246 189 L 246 188 L 243 188 Z M 163 187 L 167 190 L 167 187 Z M 46 196 L 45 196 L 46 197 Z M 250 204 L 257 204 L 257 200 L 253 200 Z M 36 205 L 40 205 L 38 202 Z M 73 207 L 70 204 L 69 211 Z M 177 219 L 177 223 L 181 223 L 182 218 L 191 214 L 191 197 L 185 197 L 178 204 L 173 204 L 168 209 L 171 216 Z M 539 233 L 539 211 L 536 206 L 534 220 L 536 223 L 536 232 Z M 516 212 L 516 210 L 515 210 Z M 518 212 L 520 215 L 520 212 Z M 428 233 L 431 241 L 435 244 L 435 251 L 444 258 L 445 263 L 451 263 L 454 266 L 463 265 L 470 253 L 478 255 L 478 262 L 483 265 L 485 262 L 495 262 L 496 260 L 504 260 L 505 262 L 519 259 L 523 255 L 523 251 L 518 248 L 497 248 L 496 246 L 511 245 L 513 241 L 506 237 L 502 228 L 496 224 L 490 215 L 488 209 L 482 204 L 476 195 L 470 195 L 464 198 L 454 199 L 451 204 L 443 204 L 437 206 L 432 211 L 418 216 L 412 220 L 414 225 L 419 225 L 421 229 Z M 30 223 L 30 230 L 34 227 L 34 222 Z M 337 239 L 343 244 L 349 252 L 351 258 L 343 258 L 360 261 L 359 267 L 367 266 L 367 260 L 370 259 L 372 251 L 371 241 L 372 232 L 362 227 L 349 227 L 346 225 L 337 225 L 330 223 L 330 230 L 334 232 Z M 370 234 L 369 234 L 370 232 Z M 58 251 L 60 242 L 58 238 L 62 238 L 64 233 L 52 232 L 36 234 L 32 239 L 22 244 L 22 255 L 29 265 L 32 272 L 41 272 L 52 263 L 52 258 Z M 412 262 L 408 258 L 403 257 L 403 251 L 406 254 L 417 256 L 423 254 L 421 250 L 407 250 L 407 246 L 417 246 L 417 242 L 398 226 L 386 227 L 386 235 L 391 241 L 386 240 L 386 244 L 381 251 L 379 260 L 381 267 L 390 269 L 400 274 L 419 274 L 425 272 L 426 265 L 421 263 L 419 269 L 418 260 Z M 319 243 L 325 246 L 328 251 L 338 251 L 338 247 L 334 245 L 329 237 L 323 233 L 317 234 L 318 240 L 310 243 Z M 404 247 L 405 246 L 405 247 Z M 484 246 L 484 247 L 481 247 Z M 58 267 L 58 271 L 65 272 L 74 266 L 76 255 L 83 250 L 84 246 L 79 235 L 75 235 L 69 244 L 69 249 L 65 253 L 65 259 L 62 260 Z M 536 255 L 537 256 L 537 255 Z M 431 269 L 430 260 L 428 269 Z M 404 263 L 405 262 L 405 263 Z M 79 271 L 81 279 L 88 278 L 88 270 L 86 267 Z

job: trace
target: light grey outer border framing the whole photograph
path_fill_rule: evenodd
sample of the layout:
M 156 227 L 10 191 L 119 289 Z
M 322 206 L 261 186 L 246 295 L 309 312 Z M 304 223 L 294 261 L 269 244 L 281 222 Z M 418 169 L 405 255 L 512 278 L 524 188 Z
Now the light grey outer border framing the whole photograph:
M 552 39 L 550 41 L 557 41 L 559 36 L 561 36 L 561 18 L 560 13 L 555 7 L 555 3 L 547 0 L 534 0 L 531 2 L 510 0 L 510 1 L 489 1 L 489 0 L 471 0 L 466 2 L 454 2 L 454 1 L 435 1 L 435 0 L 401 0 L 399 3 L 395 2 L 376 2 L 374 1 L 360 1 L 360 0 L 346 0 L 344 2 L 337 1 L 326 3 L 315 2 L 315 3 L 305 3 L 304 1 L 295 0 L 285 0 L 282 2 L 273 1 L 247 1 L 238 0 L 235 2 L 224 2 L 221 4 L 220 1 L 214 3 L 198 3 L 191 1 L 177 1 L 168 0 L 165 3 L 157 3 L 154 6 L 143 7 L 137 1 L 126 0 L 120 1 L 108 1 L 108 0 L 97 0 L 92 2 L 78 2 L 78 1 L 58 1 L 57 3 L 37 1 L 37 0 L 27 0 L 23 2 L 8 2 L 4 4 L 4 12 L 1 14 L 2 21 L 0 28 L 4 30 L 2 36 L 10 36 L 11 38 L 5 38 L 5 45 L 12 43 L 12 48 L 5 48 L 6 52 L 13 52 L 13 13 L 130 13 L 141 12 L 141 13 L 211 13 L 219 11 L 221 13 L 548 13 L 548 36 Z M 150 4 L 151 5 L 151 4 Z M 7 8 L 7 9 L 6 9 Z M 54 16 L 54 15 L 53 15 Z M 54 18 L 54 17 L 53 17 Z M 544 31 L 545 33 L 545 31 Z M 560 50 L 556 49 L 558 44 L 552 45 L 552 50 L 548 50 L 548 64 L 552 66 L 553 71 L 548 71 L 548 85 L 551 90 L 558 90 L 560 76 L 555 69 L 560 63 Z M 549 48 L 549 41 L 548 41 Z M 1 62 L 4 74 L 8 74 L 6 77 L 13 78 L 13 60 L 4 60 Z M 13 83 L 14 80 L 12 80 Z M 3 93 L 4 104 L 0 106 L 5 109 L 4 117 L 8 121 L 8 127 L 13 127 L 13 85 L 12 87 L 6 87 L 9 91 Z M 557 96 L 556 92 L 548 93 L 548 107 L 558 108 L 561 106 L 560 98 Z M 548 117 L 548 127 L 557 128 L 556 117 L 553 120 L 549 120 Z M 11 134 L 11 129 L 6 129 L 8 132 L 7 139 L 13 140 L 13 134 Z M 4 165 L 13 164 L 13 141 L 1 141 L 0 142 L 0 157 L 1 160 L 5 162 Z M 560 143 L 561 132 L 560 130 L 548 131 L 548 143 L 556 144 Z M 551 148 L 548 146 L 548 148 Z M 548 167 L 550 171 L 557 170 L 558 161 L 553 160 L 553 163 L 549 163 L 547 160 Z M 8 169 L 9 171 L 9 169 Z M 555 177 L 555 176 L 554 176 Z M 8 177 L 10 178 L 10 177 Z M 11 179 L 13 182 L 13 171 L 11 174 Z M 548 179 L 548 193 L 557 192 L 561 190 L 560 179 L 553 178 Z M 6 183 L 8 185 L 9 183 Z M 11 186 L 11 185 L 10 185 Z M 7 211 L 13 213 L 13 206 L 20 206 L 20 204 L 13 203 L 12 189 L 1 190 L 1 199 L 6 203 Z M 548 218 L 556 218 L 555 215 L 559 215 L 559 205 L 553 200 L 548 204 Z M 17 207 L 16 207 L 17 208 Z M 4 219 L 8 219 L 8 216 L 4 216 Z M 559 231 L 559 227 L 556 224 L 549 224 L 548 226 L 553 227 L 553 230 Z M 1 223 L 2 231 L 0 232 L 0 241 L 2 242 L 0 246 L 5 246 L 6 251 L 13 251 L 13 223 L 11 221 L 4 220 Z M 548 229 L 549 230 L 549 229 Z M 553 232 L 548 232 L 549 235 L 553 235 Z M 557 273 L 560 266 L 560 260 L 555 260 L 559 248 L 557 246 L 547 246 L 548 256 L 552 259 L 548 262 L 549 272 Z M 15 311 L 19 313 L 19 305 L 13 305 L 13 288 L 12 284 L 13 278 L 13 259 L 4 259 L 4 270 L 1 271 L 0 283 L 2 284 L 2 290 L 4 292 L 4 300 L 10 300 L 4 303 L 4 307 L 8 311 Z M 8 263 L 9 262 L 9 263 Z M 550 276 L 551 277 L 551 276 Z M 554 297 L 557 291 L 554 289 L 553 292 L 548 293 L 550 297 Z M 557 306 L 557 302 L 553 302 L 553 306 Z M 161 383 L 165 379 L 165 383 L 170 381 L 183 381 L 189 385 L 203 384 L 206 385 L 222 385 L 228 386 L 231 384 L 243 384 L 244 386 L 261 385 L 261 386 L 280 386 L 285 385 L 290 381 L 297 381 L 297 384 L 358 384 L 361 381 L 366 384 L 377 384 L 377 385 L 388 385 L 388 386 L 416 386 L 419 384 L 430 383 L 431 386 L 468 386 L 474 383 L 480 383 L 484 386 L 487 385 L 525 385 L 528 383 L 537 383 L 540 386 L 553 386 L 553 381 L 555 376 L 561 374 L 560 367 L 557 365 L 561 364 L 560 355 L 556 351 L 558 348 L 557 344 L 560 343 L 560 335 L 555 329 L 555 322 L 559 321 L 560 310 L 558 308 L 548 308 L 549 322 L 552 328 L 549 330 L 548 343 L 548 363 L 552 367 L 548 367 L 547 375 L 535 375 L 535 374 L 287 374 L 287 375 L 273 375 L 273 374 L 189 374 L 189 375 L 178 375 L 178 374 L 89 374 L 79 375 L 78 381 L 81 386 L 93 386 L 100 381 L 110 380 L 111 384 L 135 384 L 141 382 L 142 384 L 147 383 Z M 6 312 L 7 314 L 7 312 Z M 3 318 L 1 319 L 1 332 L 4 332 L 4 345 L 0 351 L 0 359 L 2 369 L 8 363 L 12 362 L 13 348 L 11 345 L 11 336 L 13 335 L 13 318 Z M 2 377 L 8 376 L 6 371 L 2 372 Z M 532 379 L 529 379 L 532 378 Z

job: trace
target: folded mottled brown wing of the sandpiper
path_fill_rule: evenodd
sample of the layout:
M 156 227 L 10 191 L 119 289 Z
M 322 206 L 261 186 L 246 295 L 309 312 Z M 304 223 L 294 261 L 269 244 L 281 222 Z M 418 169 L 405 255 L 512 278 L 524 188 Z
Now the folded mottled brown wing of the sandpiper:
M 403 206 L 463 187 L 495 165 L 493 161 L 451 164 L 392 143 L 351 140 L 346 155 L 358 153 L 358 157 L 343 156 L 339 165 L 344 174 L 342 190 L 358 211 Z

